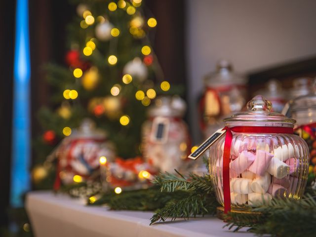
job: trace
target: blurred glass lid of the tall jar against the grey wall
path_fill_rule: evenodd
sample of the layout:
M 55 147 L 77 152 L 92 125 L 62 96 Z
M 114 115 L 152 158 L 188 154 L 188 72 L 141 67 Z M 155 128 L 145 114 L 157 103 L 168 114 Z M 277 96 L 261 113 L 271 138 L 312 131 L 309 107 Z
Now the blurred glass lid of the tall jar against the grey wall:
M 216 65 L 216 72 L 205 76 L 205 84 L 209 87 L 228 85 L 244 85 L 247 79 L 233 72 L 232 64 L 227 60 L 220 60 Z

